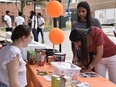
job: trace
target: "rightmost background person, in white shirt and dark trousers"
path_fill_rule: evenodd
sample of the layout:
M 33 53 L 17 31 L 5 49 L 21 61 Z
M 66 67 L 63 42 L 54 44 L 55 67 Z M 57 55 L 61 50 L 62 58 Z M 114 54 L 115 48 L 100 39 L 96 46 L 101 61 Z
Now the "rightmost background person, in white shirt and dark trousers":
M 38 17 L 38 27 L 37 27 L 37 36 L 39 35 L 39 32 L 41 33 L 41 38 L 42 38 L 42 42 L 41 43 L 45 43 L 44 40 L 44 18 L 42 17 L 41 13 L 37 13 L 37 17 Z

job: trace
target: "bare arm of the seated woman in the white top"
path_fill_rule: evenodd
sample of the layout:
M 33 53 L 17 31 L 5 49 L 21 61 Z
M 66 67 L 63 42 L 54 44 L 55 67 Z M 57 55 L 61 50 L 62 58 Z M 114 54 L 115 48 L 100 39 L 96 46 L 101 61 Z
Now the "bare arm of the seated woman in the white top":
M 10 87 L 22 87 L 18 81 L 19 60 L 18 56 L 13 58 L 7 65 Z

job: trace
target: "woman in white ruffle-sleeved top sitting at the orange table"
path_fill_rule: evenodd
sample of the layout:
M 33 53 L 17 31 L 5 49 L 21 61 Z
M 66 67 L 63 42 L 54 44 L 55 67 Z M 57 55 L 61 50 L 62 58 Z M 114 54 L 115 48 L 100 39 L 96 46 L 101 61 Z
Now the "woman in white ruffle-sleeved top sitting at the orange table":
M 12 44 L 0 50 L 0 87 L 25 87 L 26 67 L 21 49 L 32 40 L 28 25 L 17 26 L 11 36 Z

